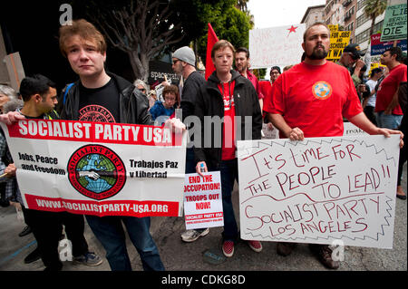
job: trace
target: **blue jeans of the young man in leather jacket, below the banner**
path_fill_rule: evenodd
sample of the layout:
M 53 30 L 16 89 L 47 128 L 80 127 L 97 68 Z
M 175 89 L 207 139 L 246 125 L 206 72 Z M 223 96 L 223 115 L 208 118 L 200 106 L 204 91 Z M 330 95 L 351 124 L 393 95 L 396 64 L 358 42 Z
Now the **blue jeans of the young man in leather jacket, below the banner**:
M 86 216 L 86 220 L 93 234 L 105 248 L 112 271 L 131 271 L 122 222 L 126 226 L 131 242 L 141 255 L 144 271 L 164 271 L 159 250 L 149 231 L 150 217 Z

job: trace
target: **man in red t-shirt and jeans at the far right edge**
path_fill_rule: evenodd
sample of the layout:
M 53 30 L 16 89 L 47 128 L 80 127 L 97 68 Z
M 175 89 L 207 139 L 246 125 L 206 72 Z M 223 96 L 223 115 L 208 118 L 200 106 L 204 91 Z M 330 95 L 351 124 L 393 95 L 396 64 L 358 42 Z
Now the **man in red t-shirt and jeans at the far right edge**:
M 397 129 L 403 119 L 403 111 L 398 104 L 398 88 L 406 82 L 406 65 L 401 63 L 403 52 L 400 47 L 391 47 L 381 55 L 381 63 L 390 71 L 380 83 L 375 101 L 377 123 L 380 128 Z

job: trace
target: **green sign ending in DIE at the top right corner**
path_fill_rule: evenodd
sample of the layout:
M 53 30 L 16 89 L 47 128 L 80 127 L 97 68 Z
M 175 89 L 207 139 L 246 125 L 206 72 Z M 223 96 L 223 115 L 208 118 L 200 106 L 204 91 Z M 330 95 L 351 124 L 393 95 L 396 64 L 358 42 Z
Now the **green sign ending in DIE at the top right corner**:
M 406 3 L 387 6 L 384 16 L 381 41 L 406 39 Z

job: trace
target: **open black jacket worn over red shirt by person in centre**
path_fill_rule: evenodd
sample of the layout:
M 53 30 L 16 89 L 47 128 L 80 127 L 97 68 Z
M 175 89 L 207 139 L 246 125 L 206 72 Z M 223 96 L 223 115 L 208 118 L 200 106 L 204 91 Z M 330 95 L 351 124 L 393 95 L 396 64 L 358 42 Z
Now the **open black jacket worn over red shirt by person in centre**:
M 236 71 L 231 71 L 231 74 L 231 82 L 235 81 L 233 94 L 235 114 L 241 117 L 240 128 L 237 127 L 237 140 L 260 140 L 262 115 L 254 85 Z M 219 168 L 222 138 L 218 138 L 221 142 L 217 144 L 214 143 L 214 136 L 219 131 L 223 136 L 224 124 L 222 124 L 220 130 L 215 128 L 214 125 L 206 128 L 204 116 L 218 116 L 220 119 L 224 117 L 224 101 L 221 92 L 219 92 L 219 83 L 216 72 L 213 72 L 209 76 L 208 82 L 199 88 L 194 112 L 201 121 L 201 140 L 195 139 L 194 141 L 195 159 L 196 162 L 206 161 L 209 169 Z M 251 117 L 250 120 L 247 121 L 246 116 Z M 237 121 L 236 125 L 238 125 Z M 208 143 L 209 138 L 211 140 L 210 144 Z M 205 147 L 206 143 L 207 148 Z

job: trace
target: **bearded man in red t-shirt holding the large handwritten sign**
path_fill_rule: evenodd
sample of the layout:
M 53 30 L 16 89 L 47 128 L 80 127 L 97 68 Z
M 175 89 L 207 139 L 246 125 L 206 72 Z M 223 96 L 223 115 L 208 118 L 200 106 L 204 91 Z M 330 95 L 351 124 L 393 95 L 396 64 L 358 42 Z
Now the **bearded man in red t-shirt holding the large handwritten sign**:
M 364 115 L 350 73 L 342 66 L 325 60 L 330 47 L 330 30 L 323 23 L 306 29 L 302 47 L 306 59 L 283 73 L 267 95 L 264 111 L 281 138 L 304 140 L 313 137 L 343 135 L 343 116 L 369 134 L 401 133 L 379 129 Z M 402 134 L 402 133 L 401 133 Z M 289 255 L 294 243 L 278 243 L 277 253 Z M 319 261 L 336 269 L 327 245 L 311 244 Z

